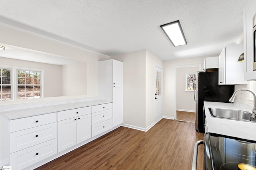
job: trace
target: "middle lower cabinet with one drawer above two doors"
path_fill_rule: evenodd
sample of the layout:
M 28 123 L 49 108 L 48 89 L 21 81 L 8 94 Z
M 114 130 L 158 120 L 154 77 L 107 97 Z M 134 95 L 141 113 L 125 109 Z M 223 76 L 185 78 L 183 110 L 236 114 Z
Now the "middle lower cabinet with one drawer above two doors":
M 59 111 L 57 117 L 58 152 L 92 137 L 91 106 Z

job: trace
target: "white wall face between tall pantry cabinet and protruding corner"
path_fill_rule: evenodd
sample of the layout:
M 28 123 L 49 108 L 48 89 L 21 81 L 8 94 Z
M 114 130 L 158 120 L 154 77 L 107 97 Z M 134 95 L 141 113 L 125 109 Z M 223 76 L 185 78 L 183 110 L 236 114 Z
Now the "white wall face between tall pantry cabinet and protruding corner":
M 146 127 L 146 50 L 110 56 L 123 62 L 124 124 Z

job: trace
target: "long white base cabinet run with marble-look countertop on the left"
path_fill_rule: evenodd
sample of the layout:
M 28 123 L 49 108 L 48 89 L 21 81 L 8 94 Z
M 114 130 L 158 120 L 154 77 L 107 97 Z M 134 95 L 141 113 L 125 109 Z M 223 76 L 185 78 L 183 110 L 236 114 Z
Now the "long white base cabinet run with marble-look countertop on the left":
M 14 170 L 34 169 L 120 127 L 112 101 L 94 97 L 4 107 L 1 164 Z

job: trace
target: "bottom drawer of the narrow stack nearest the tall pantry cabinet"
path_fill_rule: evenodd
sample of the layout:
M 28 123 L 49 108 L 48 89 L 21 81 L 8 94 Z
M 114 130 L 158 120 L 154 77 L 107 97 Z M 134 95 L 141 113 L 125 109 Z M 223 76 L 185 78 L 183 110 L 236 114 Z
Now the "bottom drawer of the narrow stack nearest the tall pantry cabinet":
M 99 135 L 100 133 L 103 133 L 112 128 L 113 128 L 113 120 L 112 119 L 103 121 L 96 125 L 92 125 L 92 137 Z

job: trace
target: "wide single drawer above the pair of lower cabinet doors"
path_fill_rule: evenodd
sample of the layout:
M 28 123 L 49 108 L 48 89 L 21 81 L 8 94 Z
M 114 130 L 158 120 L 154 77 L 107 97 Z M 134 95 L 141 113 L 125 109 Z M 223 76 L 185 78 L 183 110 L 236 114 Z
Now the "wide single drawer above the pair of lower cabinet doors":
M 65 120 L 70 119 L 72 117 L 87 115 L 92 113 L 92 107 L 81 107 L 77 109 L 70 109 L 70 110 L 64 110 L 64 111 L 58 111 L 57 113 L 57 120 Z

